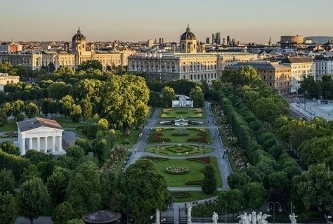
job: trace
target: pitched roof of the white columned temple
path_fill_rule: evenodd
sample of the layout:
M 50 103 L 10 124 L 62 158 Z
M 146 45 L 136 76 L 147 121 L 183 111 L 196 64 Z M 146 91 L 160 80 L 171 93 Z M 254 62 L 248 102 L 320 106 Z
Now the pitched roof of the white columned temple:
M 46 127 L 51 129 L 63 129 L 57 121 L 45 119 L 41 117 L 34 117 L 31 119 L 27 119 L 24 121 L 19 121 L 18 123 L 18 129 L 20 132 L 29 131 L 32 129 L 37 129 L 39 127 Z

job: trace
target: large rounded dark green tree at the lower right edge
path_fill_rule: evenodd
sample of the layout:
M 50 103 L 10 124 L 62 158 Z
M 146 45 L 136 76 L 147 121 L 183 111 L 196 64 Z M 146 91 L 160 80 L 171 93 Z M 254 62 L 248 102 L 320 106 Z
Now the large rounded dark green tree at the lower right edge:
M 333 204 L 333 172 L 326 164 L 316 164 L 303 172 L 305 180 L 297 185 L 297 192 L 306 209 L 320 206 L 330 211 Z

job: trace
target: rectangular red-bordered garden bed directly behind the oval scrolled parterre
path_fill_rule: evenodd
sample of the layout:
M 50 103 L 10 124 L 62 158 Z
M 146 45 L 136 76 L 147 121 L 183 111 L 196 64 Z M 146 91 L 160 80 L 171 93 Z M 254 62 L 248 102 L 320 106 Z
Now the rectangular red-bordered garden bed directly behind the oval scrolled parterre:
M 206 137 L 200 136 L 201 131 L 206 132 Z M 162 133 L 161 138 L 155 138 L 156 133 Z M 187 133 L 186 135 L 176 135 L 174 133 Z M 207 129 L 201 128 L 188 128 L 188 129 L 175 129 L 175 128 L 166 128 L 166 129 L 155 129 L 153 133 L 150 133 L 150 143 L 162 143 L 165 139 L 165 142 L 172 143 L 190 143 L 190 142 L 201 142 L 201 143 L 211 143 L 211 135 Z M 191 140 L 192 139 L 192 140 Z M 195 140 L 194 140 L 195 139 Z M 197 140 L 196 140 L 197 139 Z

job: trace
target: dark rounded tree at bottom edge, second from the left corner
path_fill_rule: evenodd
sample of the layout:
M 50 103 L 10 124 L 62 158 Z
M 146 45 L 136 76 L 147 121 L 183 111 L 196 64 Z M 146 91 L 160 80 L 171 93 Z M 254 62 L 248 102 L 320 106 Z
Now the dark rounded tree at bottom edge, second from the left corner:
M 40 178 L 32 178 L 22 184 L 18 195 L 18 205 L 20 214 L 34 223 L 34 218 L 38 218 L 50 204 L 50 195 Z

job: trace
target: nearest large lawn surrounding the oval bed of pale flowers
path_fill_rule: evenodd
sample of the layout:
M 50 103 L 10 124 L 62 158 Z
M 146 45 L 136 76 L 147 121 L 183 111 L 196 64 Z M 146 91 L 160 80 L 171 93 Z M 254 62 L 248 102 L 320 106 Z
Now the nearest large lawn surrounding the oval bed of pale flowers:
M 216 163 L 216 159 L 211 158 L 211 162 L 214 166 L 214 168 L 217 166 L 214 163 Z M 205 164 L 202 162 L 196 162 L 196 161 L 190 161 L 187 159 L 169 159 L 166 161 L 155 161 L 154 165 L 156 169 L 162 173 L 164 176 L 166 183 L 168 184 L 168 187 L 201 187 L 201 185 L 185 185 L 186 181 L 190 180 L 202 180 L 204 178 L 204 174 L 202 173 L 202 170 L 204 169 Z M 188 166 L 190 171 L 186 174 L 169 174 L 165 172 L 166 166 Z M 218 186 L 222 186 L 222 180 L 221 178 L 218 178 L 220 176 L 218 169 L 215 169 L 216 174 L 216 180 Z

